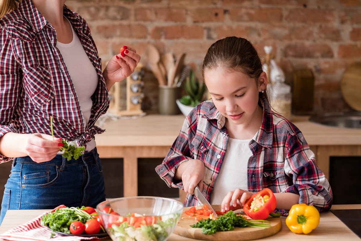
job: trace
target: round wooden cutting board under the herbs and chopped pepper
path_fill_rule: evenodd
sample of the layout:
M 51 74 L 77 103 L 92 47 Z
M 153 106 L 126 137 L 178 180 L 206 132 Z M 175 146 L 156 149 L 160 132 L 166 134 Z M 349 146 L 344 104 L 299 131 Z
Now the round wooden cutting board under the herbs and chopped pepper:
M 212 205 L 214 210 L 221 210 L 221 205 Z M 203 206 L 198 206 L 196 209 L 203 208 Z M 216 232 L 212 235 L 203 234 L 202 229 L 200 228 L 191 228 L 190 225 L 197 223 L 195 217 L 190 217 L 184 214 L 184 211 L 190 209 L 190 207 L 183 208 L 183 213 L 181 215 L 181 219 L 179 219 L 179 223 L 177 227 L 175 227 L 173 233 L 178 234 L 187 238 L 194 238 L 198 240 L 212 240 L 212 241 L 243 241 L 243 240 L 254 240 L 258 238 L 264 238 L 271 236 L 278 231 L 280 231 L 282 222 L 280 218 L 272 218 L 269 216 L 266 220 L 269 220 L 271 223 L 271 227 L 269 228 L 235 228 L 232 231 L 223 231 Z M 242 211 L 242 209 L 237 210 Z M 204 216 L 203 219 L 206 217 Z

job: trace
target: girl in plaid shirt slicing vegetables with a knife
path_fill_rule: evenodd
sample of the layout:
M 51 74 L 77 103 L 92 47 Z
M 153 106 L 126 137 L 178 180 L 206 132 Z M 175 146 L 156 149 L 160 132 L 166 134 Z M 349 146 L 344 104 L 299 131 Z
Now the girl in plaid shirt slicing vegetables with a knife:
M 201 205 L 192 195 L 198 185 L 222 211 L 242 208 L 264 188 L 275 193 L 285 215 L 296 203 L 329 210 L 329 182 L 300 130 L 271 111 L 267 76 L 252 44 L 237 37 L 218 40 L 206 53 L 202 73 L 212 100 L 186 117 L 156 168 L 169 186 L 188 193 L 185 206 Z

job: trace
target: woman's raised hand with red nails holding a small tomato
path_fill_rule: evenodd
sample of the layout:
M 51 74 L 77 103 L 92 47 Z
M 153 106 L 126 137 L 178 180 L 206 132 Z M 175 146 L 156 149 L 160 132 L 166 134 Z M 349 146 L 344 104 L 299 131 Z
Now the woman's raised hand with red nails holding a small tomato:
M 126 47 L 126 46 L 124 46 Z M 123 51 L 122 51 L 123 52 Z M 134 48 L 126 47 L 123 54 L 119 53 L 109 60 L 106 65 L 103 76 L 108 90 L 114 83 L 122 81 L 130 76 L 140 61 L 140 55 L 136 53 Z

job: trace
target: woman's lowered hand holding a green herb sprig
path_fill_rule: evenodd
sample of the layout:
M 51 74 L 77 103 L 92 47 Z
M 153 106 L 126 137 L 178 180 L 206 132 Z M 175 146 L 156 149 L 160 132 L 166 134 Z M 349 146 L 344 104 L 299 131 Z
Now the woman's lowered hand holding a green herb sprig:
M 53 140 L 51 135 L 46 134 L 29 134 L 25 143 L 25 152 L 34 162 L 47 162 L 55 158 L 60 146 L 64 146 L 61 140 L 61 138 Z

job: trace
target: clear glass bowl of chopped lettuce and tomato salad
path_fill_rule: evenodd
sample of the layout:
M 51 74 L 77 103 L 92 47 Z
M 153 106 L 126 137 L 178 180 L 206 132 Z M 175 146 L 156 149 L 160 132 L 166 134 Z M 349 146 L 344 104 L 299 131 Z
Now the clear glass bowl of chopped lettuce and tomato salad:
M 177 225 L 183 204 L 171 198 L 139 196 L 109 199 L 96 208 L 113 241 L 164 241 Z

